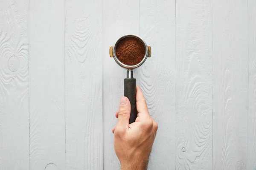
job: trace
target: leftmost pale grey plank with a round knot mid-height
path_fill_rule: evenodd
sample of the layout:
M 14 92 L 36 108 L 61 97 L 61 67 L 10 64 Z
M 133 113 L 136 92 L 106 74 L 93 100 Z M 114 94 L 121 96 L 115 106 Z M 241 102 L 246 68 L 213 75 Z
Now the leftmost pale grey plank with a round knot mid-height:
M 0 1 L 0 170 L 29 169 L 28 8 Z

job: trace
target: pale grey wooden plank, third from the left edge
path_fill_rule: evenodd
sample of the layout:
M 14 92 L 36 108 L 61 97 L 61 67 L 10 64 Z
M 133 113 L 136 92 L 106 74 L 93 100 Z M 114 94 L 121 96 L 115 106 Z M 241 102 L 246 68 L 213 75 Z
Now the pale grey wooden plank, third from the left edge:
M 66 0 L 66 169 L 103 169 L 102 0 Z

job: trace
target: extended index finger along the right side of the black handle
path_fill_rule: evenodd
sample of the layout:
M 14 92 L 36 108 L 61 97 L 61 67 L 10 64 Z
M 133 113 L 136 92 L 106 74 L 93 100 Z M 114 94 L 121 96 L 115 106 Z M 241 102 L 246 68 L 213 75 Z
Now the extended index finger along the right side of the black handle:
M 136 85 L 136 105 L 138 113 L 149 115 L 146 99 L 138 85 Z

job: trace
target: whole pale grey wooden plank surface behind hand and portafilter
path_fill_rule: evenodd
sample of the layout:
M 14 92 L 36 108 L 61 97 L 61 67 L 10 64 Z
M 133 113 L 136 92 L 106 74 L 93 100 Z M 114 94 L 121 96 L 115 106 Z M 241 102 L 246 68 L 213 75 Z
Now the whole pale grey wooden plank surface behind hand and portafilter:
M 255 170 L 255 0 L 0 0 L 0 170 L 119 169 L 123 34 L 152 47 L 148 169 Z

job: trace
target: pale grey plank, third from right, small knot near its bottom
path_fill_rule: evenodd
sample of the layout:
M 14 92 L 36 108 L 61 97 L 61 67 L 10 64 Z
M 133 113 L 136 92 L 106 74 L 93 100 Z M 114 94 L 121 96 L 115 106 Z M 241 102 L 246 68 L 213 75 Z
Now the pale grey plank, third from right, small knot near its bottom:
M 212 167 L 212 4 L 176 1 L 176 170 Z

